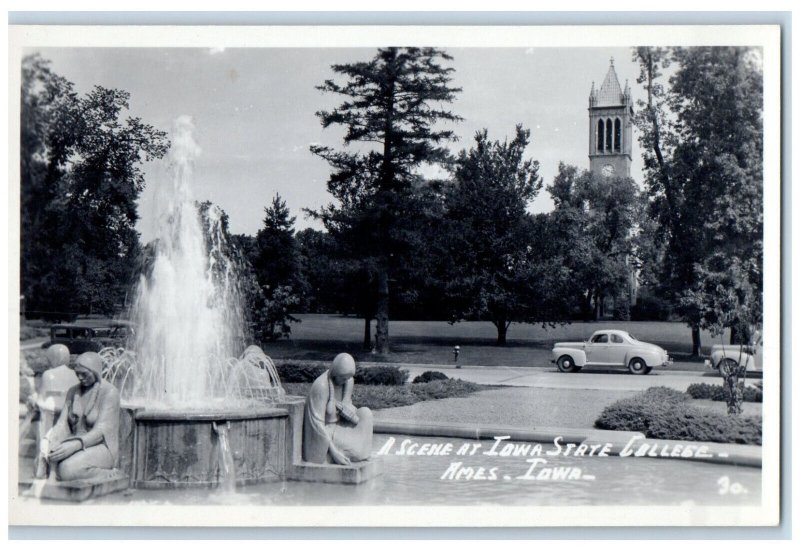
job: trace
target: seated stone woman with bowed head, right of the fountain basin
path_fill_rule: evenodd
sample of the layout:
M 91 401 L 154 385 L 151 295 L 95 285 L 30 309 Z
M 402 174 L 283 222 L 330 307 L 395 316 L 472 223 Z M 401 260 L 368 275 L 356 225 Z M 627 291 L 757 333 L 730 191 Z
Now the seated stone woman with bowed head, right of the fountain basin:
M 317 377 L 306 399 L 303 459 L 310 463 L 364 461 L 372 450 L 372 412 L 353 406 L 356 362 L 339 354 Z

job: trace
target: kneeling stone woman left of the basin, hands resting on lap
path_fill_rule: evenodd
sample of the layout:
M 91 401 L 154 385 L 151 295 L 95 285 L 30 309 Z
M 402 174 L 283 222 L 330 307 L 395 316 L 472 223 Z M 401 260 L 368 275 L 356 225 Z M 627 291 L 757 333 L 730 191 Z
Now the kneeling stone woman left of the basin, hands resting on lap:
M 119 450 L 119 393 L 102 377 L 102 358 L 86 352 L 73 369 L 79 383 L 67 392 L 61 415 L 41 446 L 50 476 L 60 481 L 113 474 Z

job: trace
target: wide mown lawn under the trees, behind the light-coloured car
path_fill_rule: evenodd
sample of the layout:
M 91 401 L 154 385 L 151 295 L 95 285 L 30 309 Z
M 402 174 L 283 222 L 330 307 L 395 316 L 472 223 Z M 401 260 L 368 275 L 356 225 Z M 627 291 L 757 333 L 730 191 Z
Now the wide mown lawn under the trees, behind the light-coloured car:
M 489 322 L 462 322 L 450 325 L 440 321 L 392 321 L 389 323 L 391 352 L 380 356 L 361 349 L 364 322 L 358 318 L 325 314 L 298 316 L 292 324 L 292 338 L 267 343 L 264 351 L 273 358 L 330 360 L 339 352 L 349 352 L 359 361 L 391 363 L 453 364 L 453 346 L 461 348 L 462 365 L 547 366 L 556 341 L 582 341 L 598 329 L 629 331 L 638 339 L 658 344 L 675 359 L 673 369 L 703 370 L 701 359 L 690 358 L 691 330 L 672 322 L 578 322 L 556 328 L 512 324 L 508 344 L 496 346 L 497 332 Z M 373 322 L 374 334 L 374 322 Z M 703 348 L 719 343 L 702 333 Z M 727 335 L 725 336 L 727 339 Z M 727 340 L 725 341 L 727 342 Z

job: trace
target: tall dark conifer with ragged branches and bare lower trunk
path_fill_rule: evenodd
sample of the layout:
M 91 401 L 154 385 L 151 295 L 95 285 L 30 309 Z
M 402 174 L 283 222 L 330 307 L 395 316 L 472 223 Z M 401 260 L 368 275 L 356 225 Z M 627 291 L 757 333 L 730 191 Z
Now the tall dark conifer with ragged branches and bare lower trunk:
M 448 160 L 444 144 L 455 135 L 441 123 L 460 120 L 442 107 L 460 91 L 449 85 L 453 69 L 442 65 L 450 59 L 436 48 L 381 48 L 369 61 L 334 65 L 343 84 L 329 79 L 318 87 L 345 97 L 334 110 L 317 113 L 323 128 L 342 125 L 345 146 L 363 145 L 356 152 L 311 147 L 333 168 L 327 187 L 338 202 L 313 214 L 375 282 L 381 354 L 389 351 L 392 273 L 414 231 L 409 214 L 420 206 L 416 171 Z

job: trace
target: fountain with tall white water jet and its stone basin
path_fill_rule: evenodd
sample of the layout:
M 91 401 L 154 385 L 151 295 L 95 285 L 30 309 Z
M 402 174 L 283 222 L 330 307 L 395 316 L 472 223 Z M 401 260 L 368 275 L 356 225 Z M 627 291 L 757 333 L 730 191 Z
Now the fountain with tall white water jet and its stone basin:
M 299 449 L 302 398 L 285 395 L 258 347 L 241 351 L 246 324 L 221 211 L 201 214 L 192 196 L 192 130 L 189 117 L 177 119 L 128 349 L 101 353 L 123 403 L 120 468 L 137 488 L 281 479 Z

